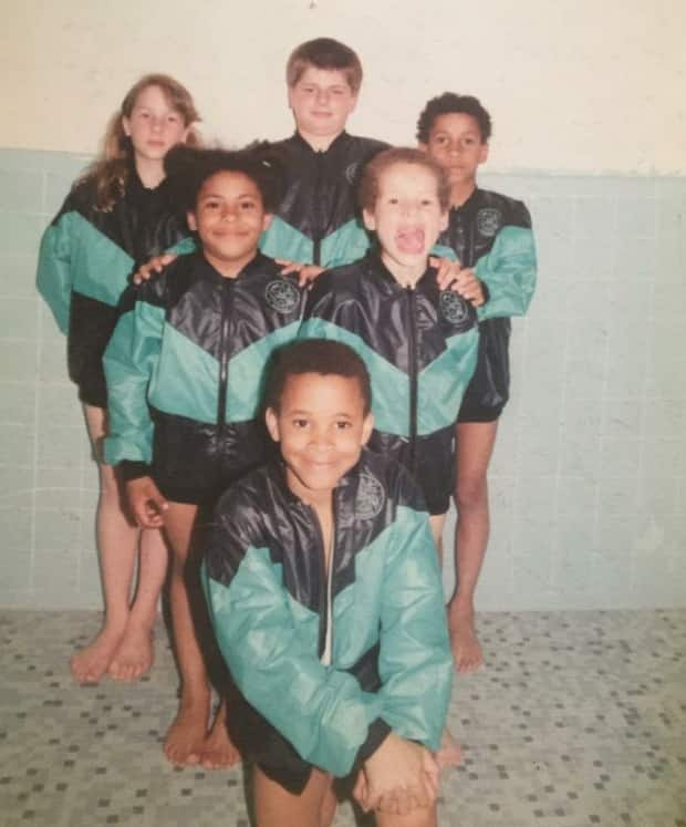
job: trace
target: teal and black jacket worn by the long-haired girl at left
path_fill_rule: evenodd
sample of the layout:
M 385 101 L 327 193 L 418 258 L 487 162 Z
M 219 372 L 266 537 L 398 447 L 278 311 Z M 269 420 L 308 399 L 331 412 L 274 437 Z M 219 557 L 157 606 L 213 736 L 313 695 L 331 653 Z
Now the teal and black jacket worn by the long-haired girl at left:
M 186 249 L 190 240 L 166 182 L 146 189 L 132 168 L 125 195 L 106 213 L 94 206 L 94 187 L 92 179 L 77 184 L 45 230 L 38 289 L 67 333 L 69 375 L 80 399 L 105 407 L 102 358 L 129 273 L 152 256 Z

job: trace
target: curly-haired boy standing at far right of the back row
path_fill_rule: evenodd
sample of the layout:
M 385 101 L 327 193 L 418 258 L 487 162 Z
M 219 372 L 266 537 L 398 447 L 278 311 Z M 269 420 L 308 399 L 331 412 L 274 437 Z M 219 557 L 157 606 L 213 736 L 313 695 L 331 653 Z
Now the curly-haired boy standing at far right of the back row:
M 531 219 L 521 201 L 479 189 L 477 169 L 488 157 L 491 122 L 476 97 L 445 93 L 419 115 L 417 138 L 450 179 L 450 219 L 437 252 L 451 248 L 474 268 L 488 301 L 479 308 L 479 356 L 457 424 L 457 590 L 448 607 L 460 672 L 482 663 L 475 632 L 474 592 L 488 542 L 488 464 L 498 417 L 509 396 L 510 316 L 526 313 L 536 283 Z

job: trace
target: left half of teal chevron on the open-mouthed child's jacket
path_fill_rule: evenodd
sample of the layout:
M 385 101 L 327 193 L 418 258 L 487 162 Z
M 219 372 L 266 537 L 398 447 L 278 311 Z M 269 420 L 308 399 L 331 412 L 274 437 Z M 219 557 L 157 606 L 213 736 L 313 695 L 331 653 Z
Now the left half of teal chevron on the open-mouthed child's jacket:
M 333 339 L 362 356 L 372 379 L 374 427 L 388 434 L 409 436 L 409 382 L 407 374 L 372 350 L 357 334 L 324 319 L 308 319 L 300 339 Z

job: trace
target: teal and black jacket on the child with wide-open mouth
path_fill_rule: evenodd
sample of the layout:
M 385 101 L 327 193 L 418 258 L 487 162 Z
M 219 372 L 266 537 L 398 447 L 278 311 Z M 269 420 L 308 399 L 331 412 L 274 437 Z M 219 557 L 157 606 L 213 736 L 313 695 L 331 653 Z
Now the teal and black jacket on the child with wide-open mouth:
M 370 254 L 316 279 L 300 337 L 335 339 L 364 359 L 372 378 L 370 447 L 409 468 L 429 513 L 444 514 L 455 421 L 477 359 L 471 304 L 440 291 L 433 268 L 414 288 L 401 287 Z

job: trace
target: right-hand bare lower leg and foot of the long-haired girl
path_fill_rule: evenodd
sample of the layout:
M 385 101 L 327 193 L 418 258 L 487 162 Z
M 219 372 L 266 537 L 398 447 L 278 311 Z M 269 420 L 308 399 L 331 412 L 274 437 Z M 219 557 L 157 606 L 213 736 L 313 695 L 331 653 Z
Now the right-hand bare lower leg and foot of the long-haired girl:
M 139 547 L 136 597 L 124 637 L 107 670 L 112 678 L 119 681 L 135 681 L 153 665 L 153 628 L 169 559 L 159 530 L 142 531 Z

